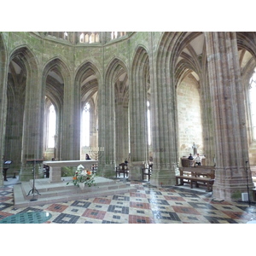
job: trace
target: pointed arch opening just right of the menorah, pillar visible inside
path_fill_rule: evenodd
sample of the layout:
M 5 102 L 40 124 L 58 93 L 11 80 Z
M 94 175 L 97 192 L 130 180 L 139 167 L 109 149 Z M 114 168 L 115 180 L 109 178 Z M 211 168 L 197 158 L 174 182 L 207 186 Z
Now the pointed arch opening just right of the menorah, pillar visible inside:
M 104 141 L 106 158 L 109 164 L 119 164 L 124 161 L 129 153 L 129 119 L 128 119 L 128 102 L 129 102 L 129 79 L 127 68 L 123 61 L 114 58 L 106 68 L 105 86 L 103 93 L 105 94 L 103 106 L 104 126 L 106 131 L 103 136 L 108 137 Z M 123 127 L 123 135 L 121 137 L 121 127 Z M 104 135 L 104 132 L 106 134 Z M 117 143 L 124 147 L 122 151 L 114 150 Z M 112 167 L 113 168 L 113 167 Z M 112 171 L 113 172 L 113 171 Z

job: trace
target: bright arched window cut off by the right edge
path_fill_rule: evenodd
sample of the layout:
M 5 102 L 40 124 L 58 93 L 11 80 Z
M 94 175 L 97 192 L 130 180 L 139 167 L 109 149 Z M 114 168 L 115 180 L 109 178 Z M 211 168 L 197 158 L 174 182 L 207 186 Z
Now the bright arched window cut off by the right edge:
M 253 129 L 253 140 L 256 140 L 256 67 L 253 71 L 253 76 L 250 79 L 249 84 L 249 100 L 250 100 L 250 110 L 252 119 L 252 129 Z

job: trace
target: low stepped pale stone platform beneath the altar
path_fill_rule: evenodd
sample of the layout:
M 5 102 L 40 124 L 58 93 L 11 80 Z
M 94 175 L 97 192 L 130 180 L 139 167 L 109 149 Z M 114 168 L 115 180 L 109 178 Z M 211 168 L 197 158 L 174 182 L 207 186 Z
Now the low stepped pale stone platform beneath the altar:
M 95 181 L 95 186 L 85 186 L 84 189 L 73 185 L 73 177 L 62 177 L 61 182 L 58 183 L 52 183 L 48 178 L 35 179 L 34 189 L 32 189 L 33 180 L 17 183 L 14 186 L 14 206 L 15 208 L 44 206 L 44 204 L 137 191 L 135 187 L 119 180 L 95 177 Z

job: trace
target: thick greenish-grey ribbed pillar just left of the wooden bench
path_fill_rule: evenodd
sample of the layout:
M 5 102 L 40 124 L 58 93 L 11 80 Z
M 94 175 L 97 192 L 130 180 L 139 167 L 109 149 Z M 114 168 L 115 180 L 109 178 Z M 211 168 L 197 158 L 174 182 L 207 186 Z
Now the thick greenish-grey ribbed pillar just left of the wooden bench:
M 177 33 L 178 35 L 179 33 Z M 176 37 L 176 34 L 174 36 Z M 173 41 L 175 42 L 174 39 Z M 151 47 L 154 49 L 154 44 Z M 174 185 L 176 183 L 175 174 L 178 160 L 174 69 L 170 66 L 171 59 L 166 54 L 167 52 L 172 52 L 172 47 L 170 43 L 164 42 L 160 45 L 160 53 L 158 53 L 160 57 L 157 61 L 155 61 L 153 54 L 150 58 L 150 106 L 152 109 L 151 132 L 154 163 L 150 183 L 156 186 Z

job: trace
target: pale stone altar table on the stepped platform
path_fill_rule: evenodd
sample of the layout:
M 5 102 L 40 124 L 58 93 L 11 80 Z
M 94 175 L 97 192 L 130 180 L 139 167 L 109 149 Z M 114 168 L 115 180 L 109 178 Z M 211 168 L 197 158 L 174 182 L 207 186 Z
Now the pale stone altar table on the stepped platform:
M 64 160 L 64 161 L 44 161 L 44 165 L 49 166 L 50 183 L 61 182 L 61 167 L 74 167 L 82 165 L 85 169 L 90 170 L 92 165 L 96 165 L 97 160 Z

